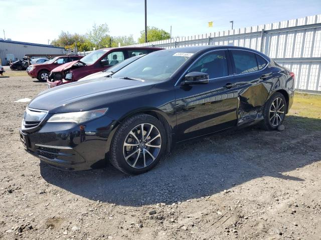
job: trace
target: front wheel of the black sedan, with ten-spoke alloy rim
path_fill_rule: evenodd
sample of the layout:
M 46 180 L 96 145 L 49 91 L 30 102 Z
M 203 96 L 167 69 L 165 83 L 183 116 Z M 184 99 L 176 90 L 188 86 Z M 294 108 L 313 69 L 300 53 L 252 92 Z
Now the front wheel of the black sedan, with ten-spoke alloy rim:
M 157 164 L 166 144 L 161 121 L 148 114 L 137 114 L 127 118 L 115 132 L 110 162 L 126 174 L 140 174 Z

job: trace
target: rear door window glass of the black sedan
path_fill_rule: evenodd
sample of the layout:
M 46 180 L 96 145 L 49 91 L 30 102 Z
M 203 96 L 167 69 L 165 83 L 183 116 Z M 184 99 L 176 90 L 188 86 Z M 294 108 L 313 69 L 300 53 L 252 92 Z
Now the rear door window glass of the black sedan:
M 236 74 L 257 71 L 255 53 L 242 50 L 232 50 Z

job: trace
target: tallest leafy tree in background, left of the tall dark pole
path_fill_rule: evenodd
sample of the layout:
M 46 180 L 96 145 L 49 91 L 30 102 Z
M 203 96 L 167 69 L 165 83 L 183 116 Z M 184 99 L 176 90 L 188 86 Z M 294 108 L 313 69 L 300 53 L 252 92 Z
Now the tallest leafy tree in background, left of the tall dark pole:
M 110 37 L 108 35 L 109 27 L 106 23 L 103 23 L 101 25 L 93 24 L 92 29 L 88 31 L 88 39 L 95 44 L 96 48 L 99 49 L 101 47 L 106 47 L 105 43 L 108 43 L 108 38 Z M 110 43 L 111 45 L 111 43 Z

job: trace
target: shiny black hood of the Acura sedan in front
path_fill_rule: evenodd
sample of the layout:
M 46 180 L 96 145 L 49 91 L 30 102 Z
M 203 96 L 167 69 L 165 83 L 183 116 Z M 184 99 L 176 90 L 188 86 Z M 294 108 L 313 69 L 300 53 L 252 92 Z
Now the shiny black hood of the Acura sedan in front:
M 106 106 L 124 95 L 150 89 L 156 82 L 100 77 L 63 84 L 39 93 L 29 107 L 49 113 L 85 111 Z

